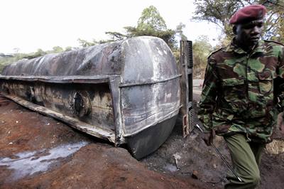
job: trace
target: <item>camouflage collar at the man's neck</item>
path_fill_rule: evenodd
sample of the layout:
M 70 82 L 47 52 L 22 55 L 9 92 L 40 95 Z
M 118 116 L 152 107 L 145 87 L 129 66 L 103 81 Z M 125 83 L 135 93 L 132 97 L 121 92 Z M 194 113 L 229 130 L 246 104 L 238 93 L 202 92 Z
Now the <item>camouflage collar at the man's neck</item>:
M 244 51 L 242 48 L 239 48 L 236 43 L 234 43 L 234 39 L 231 41 L 231 44 L 226 47 L 226 52 L 234 52 L 238 54 L 248 54 L 246 51 Z M 251 55 L 255 53 L 264 53 L 264 41 L 259 40 L 258 43 L 256 43 L 256 46 L 251 51 Z

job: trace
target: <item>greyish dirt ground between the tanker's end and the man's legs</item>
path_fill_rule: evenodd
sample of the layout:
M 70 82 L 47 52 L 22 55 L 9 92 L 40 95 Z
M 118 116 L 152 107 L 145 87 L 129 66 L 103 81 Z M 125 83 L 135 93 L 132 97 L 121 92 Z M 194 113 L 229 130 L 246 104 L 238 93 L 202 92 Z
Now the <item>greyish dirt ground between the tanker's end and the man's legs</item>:
M 195 124 L 197 119 L 197 102 L 200 100 L 201 90 L 193 94 Z M 229 151 L 222 137 L 214 139 L 214 145 L 230 161 Z M 148 168 L 176 178 L 188 178 L 195 173 L 202 183 L 210 184 L 208 188 L 224 188 L 226 172 L 229 168 L 211 146 L 206 146 L 195 129 L 190 136 L 183 139 L 179 126 L 176 125 L 170 138 L 165 141 L 158 151 L 142 160 Z M 277 129 L 274 141 L 266 146 L 261 161 L 261 185 L 259 189 L 284 188 L 284 135 Z

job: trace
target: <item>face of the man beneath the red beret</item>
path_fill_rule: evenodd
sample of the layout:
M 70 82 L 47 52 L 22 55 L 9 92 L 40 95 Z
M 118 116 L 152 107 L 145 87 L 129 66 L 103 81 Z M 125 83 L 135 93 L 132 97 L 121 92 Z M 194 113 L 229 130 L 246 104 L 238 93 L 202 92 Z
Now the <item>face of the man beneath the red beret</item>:
M 256 45 L 263 31 L 263 20 L 236 25 L 236 41 L 241 45 Z

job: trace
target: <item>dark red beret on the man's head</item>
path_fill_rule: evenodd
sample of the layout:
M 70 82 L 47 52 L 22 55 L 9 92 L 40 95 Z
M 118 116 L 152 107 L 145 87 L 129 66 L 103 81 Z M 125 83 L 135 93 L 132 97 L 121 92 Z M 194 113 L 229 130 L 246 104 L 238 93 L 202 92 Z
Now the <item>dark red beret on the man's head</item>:
M 266 7 L 260 4 L 253 4 L 236 11 L 236 13 L 231 16 L 230 23 L 245 23 L 264 18 L 264 16 L 266 16 Z

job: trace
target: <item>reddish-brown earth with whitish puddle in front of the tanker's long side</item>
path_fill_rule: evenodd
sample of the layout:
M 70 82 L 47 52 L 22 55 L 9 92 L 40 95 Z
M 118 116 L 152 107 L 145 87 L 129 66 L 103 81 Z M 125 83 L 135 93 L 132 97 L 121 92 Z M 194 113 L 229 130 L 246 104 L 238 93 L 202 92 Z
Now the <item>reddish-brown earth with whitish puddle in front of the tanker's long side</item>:
M 0 97 L 0 188 L 207 188 Z

